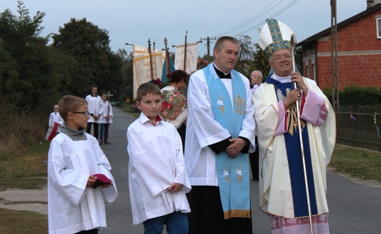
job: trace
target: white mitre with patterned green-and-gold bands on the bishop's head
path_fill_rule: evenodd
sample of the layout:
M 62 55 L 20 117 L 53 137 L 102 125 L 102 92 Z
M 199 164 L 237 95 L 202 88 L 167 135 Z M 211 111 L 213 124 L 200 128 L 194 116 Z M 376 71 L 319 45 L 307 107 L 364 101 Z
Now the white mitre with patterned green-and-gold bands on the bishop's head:
M 293 31 L 290 27 L 276 19 L 269 19 L 261 30 L 258 44 L 271 56 L 278 49 L 291 50 L 291 35 Z

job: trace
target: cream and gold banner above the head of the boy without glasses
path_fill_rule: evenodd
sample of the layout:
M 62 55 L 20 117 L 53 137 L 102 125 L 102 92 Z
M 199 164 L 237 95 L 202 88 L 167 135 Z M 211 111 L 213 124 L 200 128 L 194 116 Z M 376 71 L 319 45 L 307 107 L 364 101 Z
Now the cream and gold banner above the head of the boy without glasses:
M 134 46 L 135 47 L 135 46 Z M 135 48 L 134 48 L 135 51 Z M 151 81 L 162 77 L 163 73 L 163 53 L 161 50 L 151 52 L 152 59 L 152 74 L 151 77 L 151 62 L 149 53 L 137 53 L 134 55 L 134 101 L 136 100 L 136 93 L 138 87 L 142 83 Z

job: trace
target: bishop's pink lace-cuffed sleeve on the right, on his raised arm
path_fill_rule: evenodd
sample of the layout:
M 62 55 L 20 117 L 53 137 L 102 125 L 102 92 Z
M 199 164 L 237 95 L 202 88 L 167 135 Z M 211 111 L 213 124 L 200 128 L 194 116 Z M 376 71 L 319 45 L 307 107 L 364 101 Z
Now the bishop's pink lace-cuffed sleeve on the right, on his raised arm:
M 300 105 L 300 118 L 316 125 L 317 127 L 327 120 L 328 109 L 324 100 L 317 96 L 311 89 L 308 90 L 307 97 L 303 94 Z

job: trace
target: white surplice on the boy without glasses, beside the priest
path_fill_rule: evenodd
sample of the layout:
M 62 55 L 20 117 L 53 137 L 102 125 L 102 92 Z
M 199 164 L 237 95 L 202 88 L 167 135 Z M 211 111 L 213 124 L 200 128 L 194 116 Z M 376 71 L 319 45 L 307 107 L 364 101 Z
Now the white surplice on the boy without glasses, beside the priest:
M 127 131 L 129 186 L 133 223 L 171 214 L 190 212 L 185 193 L 190 183 L 185 171 L 180 135 L 164 120 L 153 125 L 143 113 Z M 182 184 L 169 192 L 173 183 Z

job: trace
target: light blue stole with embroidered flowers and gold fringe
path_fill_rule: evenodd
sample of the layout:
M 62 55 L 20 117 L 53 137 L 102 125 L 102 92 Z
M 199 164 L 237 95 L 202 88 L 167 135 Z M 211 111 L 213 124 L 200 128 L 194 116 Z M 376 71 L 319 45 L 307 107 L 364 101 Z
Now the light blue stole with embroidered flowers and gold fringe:
M 209 87 L 214 120 L 227 129 L 233 138 L 242 128 L 246 107 L 246 88 L 238 72 L 232 70 L 233 102 L 213 64 L 203 69 Z M 234 105 L 234 107 L 233 107 Z M 200 120 L 202 121 L 202 120 Z M 227 152 L 215 155 L 219 193 L 225 219 L 250 217 L 249 164 L 247 154 L 231 159 Z

